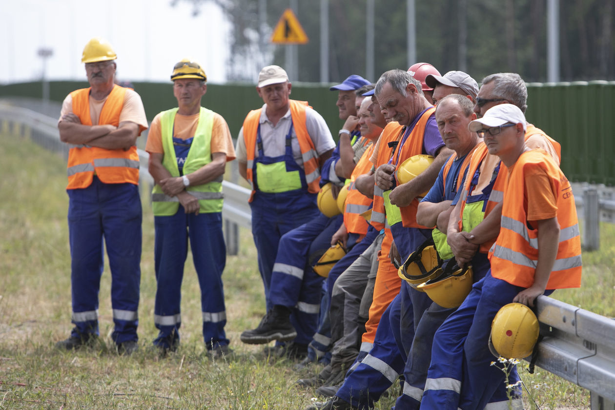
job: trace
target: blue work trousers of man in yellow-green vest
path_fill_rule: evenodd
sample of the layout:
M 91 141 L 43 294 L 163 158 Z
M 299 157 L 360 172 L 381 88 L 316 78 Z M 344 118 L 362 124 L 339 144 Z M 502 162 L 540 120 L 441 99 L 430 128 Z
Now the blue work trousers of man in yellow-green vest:
M 188 239 L 192 261 L 199 278 L 203 338 L 208 350 L 228 345 L 224 333 L 226 309 L 222 272 L 226 264 L 226 246 L 222 234 L 222 214 L 186 214 L 180 205 L 171 216 L 154 216 L 156 243 L 156 302 L 154 323 L 159 334 L 155 345 L 169 348 L 180 341 L 181 282 L 188 256 Z

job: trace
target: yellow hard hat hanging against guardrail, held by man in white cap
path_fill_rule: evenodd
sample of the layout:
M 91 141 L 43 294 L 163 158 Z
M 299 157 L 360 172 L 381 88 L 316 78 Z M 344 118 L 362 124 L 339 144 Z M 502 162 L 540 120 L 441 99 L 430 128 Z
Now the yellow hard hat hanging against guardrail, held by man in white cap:
M 538 318 L 529 307 L 520 303 L 502 306 L 491 322 L 491 353 L 507 359 L 528 357 L 538 341 L 539 331 Z

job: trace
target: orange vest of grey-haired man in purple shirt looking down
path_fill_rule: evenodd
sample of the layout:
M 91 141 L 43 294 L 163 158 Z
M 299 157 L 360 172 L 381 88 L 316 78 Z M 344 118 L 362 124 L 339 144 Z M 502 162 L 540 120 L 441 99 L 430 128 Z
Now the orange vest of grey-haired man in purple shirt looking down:
M 423 135 L 425 132 L 425 126 L 427 125 L 427 120 L 429 120 L 429 117 L 431 117 L 434 114 L 434 112 L 435 112 L 435 107 L 431 107 L 427 109 L 423 113 L 421 118 L 418 120 L 418 122 L 416 122 L 415 127 L 413 128 L 410 135 L 408 135 L 408 138 L 403 144 L 401 151 L 399 153 L 399 156 L 397 156 L 398 158 L 397 164 L 394 164 L 395 171 L 399 169 L 400 165 L 402 165 L 402 162 L 405 159 L 408 159 L 415 155 L 419 155 L 421 154 L 421 152 L 423 152 Z M 387 124 L 387 127 L 388 126 L 389 125 Z M 386 127 L 384 129 L 386 130 Z M 383 132 L 383 136 L 384 136 L 384 132 Z M 381 138 L 383 138 L 383 136 L 381 136 Z M 389 141 L 399 140 L 400 136 L 401 135 L 398 132 L 397 135 L 394 135 L 394 138 L 390 140 L 381 141 L 379 151 L 378 151 L 378 165 L 376 166 L 376 168 L 382 164 L 387 164 L 389 162 L 389 159 L 391 159 L 391 157 L 395 155 L 394 152 L 396 152 L 397 149 L 399 149 L 399 147 L 395 148 L 394 152 L 391 152 L 389 151 L 388 143 Z M 400 213 L 402 215 L 402 223 L 404 227 L 416 227 L 416 228 L 427 229 L 426 226 L 419 225 L 418 223 L 416 223 L 416 208 L 418 208 L 418 206 L 419 206 L 419 201 L 418 199 L 415 198 L 412 200 L 410 205 L 408 205 L 407 207 L 399 208 Z M 373 219 L 375 216 L 379 217 L 379 214 L 384 215 L 384 213 L 385 213 L 384 193 L 382 189 L 379 189 L 378 186 L 375 186 L 374 187 L 374 206 L 373 206 L 373 211 L 371 213 L 371 217 Z

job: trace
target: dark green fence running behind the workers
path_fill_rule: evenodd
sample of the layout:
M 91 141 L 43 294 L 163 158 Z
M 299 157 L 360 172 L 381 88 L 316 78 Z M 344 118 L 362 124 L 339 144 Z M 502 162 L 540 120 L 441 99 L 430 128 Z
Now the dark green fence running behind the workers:
M 170 82 L 135 82 L 148 120 L 157 112 L 177 105 Z M 63 101 L 85 81 L 52 81 L 50 99 Z M 41 82 L 0 85 L 0 97 L 41 98 Z M 337 92 L 325 85 L 295 83 L 292 98 L 307 100 L 328 124 L 337 139 L 343 122 L 335 106 Z M 260 108 L 263 100 L 254 85 L 208 84 L 203 105 L 221 114 L 236 138 L 245 115 Z M 560 82 L 528 84 L 528 121 L 561 144 L 561 168 L 571 181 L 615 185 L 615 82 Z M 59 116 L 58 112 L 58 116 Z

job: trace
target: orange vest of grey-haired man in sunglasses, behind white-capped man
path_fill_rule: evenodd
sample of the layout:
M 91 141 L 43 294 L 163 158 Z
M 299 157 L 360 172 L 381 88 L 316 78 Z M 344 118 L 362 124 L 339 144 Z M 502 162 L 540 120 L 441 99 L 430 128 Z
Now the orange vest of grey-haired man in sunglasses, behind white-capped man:
M 529 124 L 526 128 L 525 140 L 530 138 L 530 136 L 536 135 L 536 134 L 544 136 L 551 143 L 551 145 L 555 149 L 557 156 L 561 160 L 560 143 L 555 141 L 549 135 L 546 135 L 546 133 L 544 133 L 544 131 L 542 131 L 540 128 L 536 128 L 534 127 L 534 125 Z M 466 207 L 466 198 L 467 198 L 467 195 L 469 195 L 469 189 L 470 189 L 470 183 L 472 182 L 472 176 L 474 176 L 474 174 L 478 170 L 478 167 L 480 167 L 480 164 L 482 164 L 483 159 L 485 159 L 485 156 L 489 152 L 485 143 L 481 143 L 478 145 L 479 145 L 478 148 L 475 149 L 474 155 L 472 156 L 472 159 L 470 160 L 470 165 L 467 170 L 468 178 L 466 178 L 466 182 L 464 183 L 464 189 L 461 192 L 461 197 L 459 198 L 459 201 L 461 202 L 461 208 L 459 211 L 459 231 L 462 231 L 463 229 L 462 216 L 463 216 L 464 208 Z M 496 176 L 496 180 L 493 183 L 493 187 L 491 189 L 491 193 L 489 195 L 489 199 L 487 200 L 487 204 L 485 207 L 485 218 L 487 215 L 491 213 L 491 211 L 493 211 L 493 208 L 495 208 L 496 205 L 498 205 L 498 203 L 502 202 L 502 197 L 504 196 L 504 186 L 506 184 L 507 175 L 508 175 L 508 168 L 506 168 L 506 165 L 500 164 L 498 176 Z M 491 248 L 491 245 L 493 245 L 494 242 L 495 242 L 495 239 L 491 239 L 485 243 L 482 243 L 479 246 L 478 251 L 481 253 L 488 253 L 488 251 Z

